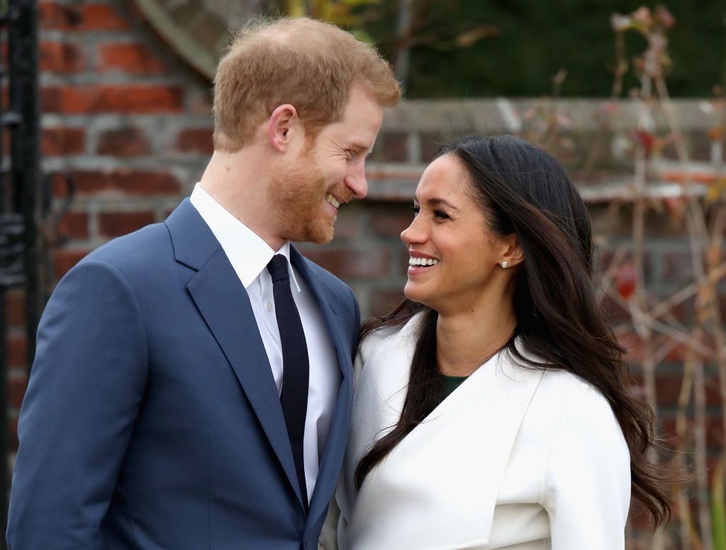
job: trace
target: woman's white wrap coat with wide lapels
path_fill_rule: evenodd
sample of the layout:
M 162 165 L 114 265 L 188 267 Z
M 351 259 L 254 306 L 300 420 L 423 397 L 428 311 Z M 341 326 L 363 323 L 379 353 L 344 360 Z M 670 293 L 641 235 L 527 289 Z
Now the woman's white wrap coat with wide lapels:
M 506 352 L 355 490 L 360 457 L 399 420 L 421 319 L 362 345 L 351 439 L 321 547 L 624 549 L 630 457 L 610 405 L 574 374 L 526 369 Z

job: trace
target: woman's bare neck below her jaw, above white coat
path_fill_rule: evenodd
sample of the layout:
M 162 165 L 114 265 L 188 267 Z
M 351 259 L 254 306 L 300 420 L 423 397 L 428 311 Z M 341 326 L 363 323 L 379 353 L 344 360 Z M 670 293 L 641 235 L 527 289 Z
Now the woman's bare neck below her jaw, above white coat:
M 436 361 L 441 374 L 468 376 L 502 349 L 517 326 L 511 300 L 439 314 Z

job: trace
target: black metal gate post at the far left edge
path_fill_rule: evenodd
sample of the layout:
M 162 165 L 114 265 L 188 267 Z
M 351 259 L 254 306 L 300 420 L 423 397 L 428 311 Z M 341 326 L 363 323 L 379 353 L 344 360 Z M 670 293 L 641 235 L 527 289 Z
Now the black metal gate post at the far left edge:
M 0 0 L 7 37 L 8 106 L 0 106 L 0 129 L 9 128 L 9 167 L 0 161 L 0 547 L 5 548 L 9 494 L 7 418 L 7 312 L 5 292 L 25 289 L 28 371 L 36 348 L 43 301 L 38 288 L 38 192 L 40 186 L 40 100 L 38 94 L 38 9 L 36 0 Z M 0 80 L 1 82 L 1 80 Z M 1 102 L 0 102 L 1 103 Z M 4 155 L 0 138 L 0 155 Z

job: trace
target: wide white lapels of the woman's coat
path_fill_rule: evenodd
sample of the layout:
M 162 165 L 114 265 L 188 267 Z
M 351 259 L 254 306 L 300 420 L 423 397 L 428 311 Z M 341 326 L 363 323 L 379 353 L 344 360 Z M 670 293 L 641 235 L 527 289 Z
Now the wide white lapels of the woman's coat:
M 421 319 L 364 348 L 346 456 L 346 509 L 341 506 L 354 546 L 486 544 L 515 437 L 542 378 L 541 370 L 521 368 L 506 352 L 498 353 L 401 440 L 356 495 L 350 483 L 354 464 L 398 422 Z

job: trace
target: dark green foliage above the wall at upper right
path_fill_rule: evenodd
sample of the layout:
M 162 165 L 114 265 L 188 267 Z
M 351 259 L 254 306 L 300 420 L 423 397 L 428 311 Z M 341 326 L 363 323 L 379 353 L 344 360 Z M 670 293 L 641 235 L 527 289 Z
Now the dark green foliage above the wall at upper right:
M 722 83 L 726 50 L 726 4 L 706 0 L 663 2 L 675 16 L 669 31 L 673 96 L 710 96 Z M 629 13 L 642 1 L 627 0 L 428 0 L 415 2 L 417 28 L 411 52 L 407 96 L 492 97 L 549 94 L 552 77 L 567 70 L 564 97 L 608 97 L 615 65 L 613 12 Z M 651 8 L 655 3 L 646 4 Z M 399 0 L 367 10 L 367 30 L 396 59 Z M 442 48 L 442 30 L 462 23 L 489 25 L 489 33 L 469 47 Z M 446 42 L 444 40 L 444 42 Z M 445 45 L 445 44 L 444 44 Z M 627 33 L 629 57 L 645 49 L 645 39 Z M 630 73 L 624 90 L 638 86 Z

